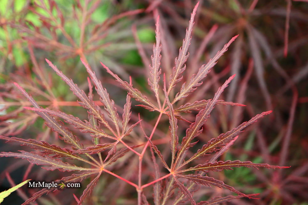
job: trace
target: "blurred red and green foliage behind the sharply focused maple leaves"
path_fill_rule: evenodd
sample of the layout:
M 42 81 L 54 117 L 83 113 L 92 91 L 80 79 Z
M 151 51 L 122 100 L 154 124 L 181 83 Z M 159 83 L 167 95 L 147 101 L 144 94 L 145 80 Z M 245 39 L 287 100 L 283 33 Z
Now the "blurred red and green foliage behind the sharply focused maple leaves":
M 42 106 L 61 109 L 86 119 L 83 109 L 74 104 L 53 104 L 75 101 L 75 96 L 47 68 L 45 57 L 82 89 L 87 89 L 87 72 L 79 58 L 86 59 L 119 106 L 125 103 L 126 93 L 101 68 L 99 61 L 126 81 L 132 76 L 133 84 L 150 95 L 147 62 L 155 42 L 154 20 L 160 15 L 164 36 L 162 70 L 168 76 L 195 3 L 190 0 L 0 0 L 0 134 L 30 136 L 39 140 L 51 138 L 51 142 L 56 139 L 49 137 L 51 132 L 43 125 L 43 120 L 22 109 L 25 99 L 12 85 L 14 81 L 27 88 L 36 100 L 49 101 L 49 104 L 47 102 Z M 188 73 L 195 73 L 231 37 L 240 36 L 218 61 L 209 79 L 206 79 L 209 81 L 207 89 L 201 89 L 186 101 L 192 102 L 200 96 L 202 99 L 211 98 L 217 85 L 236 73 L 237 78 L 224 97 L 227 101 L 244 103 L 247 107 L 243 111 L 234 108 L 236 111 L 233 112 L 230 111 L 233 108 L 217 106 L 217 117 L 205 125 L 205 134 L 199 140 L 206 142 L 255 113 L 273 109 L 274 114 L 270 119 L 262 120 L 252 128 L 250 134 L 249 131 L 242 134 L 223 157 L 225 160 L 292 166 L 281 172 L 236 168 L 218 176 L 226 178 L 229 185 L 239 187 L 240 191 L 264 193 L 260 195 L 261 200 L 249 201 L 252 204 L 304 205 L 308 201 L 307 31 L 308 2 L 305 1 L 200 2 L 189 50 L 190 60 L 186 64 Z M 253 64 L 249 64 L 251 62 Z M 244 78 L 247 78 L 246 84 Z M 237 94 L 241 88 L 244 94 Z M 133 107 L 133 112 L 140 112 L 149 123 L 156 116 L 156 113 L 139 107 Z M 191 120 L 192 114 L 183 117 Z M 184 132 L 187 124 L 182 121 L 179 123 L 183 125 Z M 167 129 L 160 125 L 161 133 Z M 1 151 L 9 150 L 3 144 L 0 145 Z M 10 164 L 7 159 L 0 160 L 2 164 Z M 21 181 L 21 173 L 26 165 L 18 166 L 2 166 L 1 171 L 16 169 L 11 175 L 15 181 Z M 6 189 L 10 185 L 3 173 L 2 188 Z M 96 194 L 99 197 L 100 193 Z M 14 196 L 10 197 L 13 200 Z M 123 197 L 118 198 L 116 203 L 121 204 L 125 199 L 133 198 L 125 194 Z M 52 200 L 51 204 L 57 202 L 47 197 L 44 200 L 47 201 L 42 199 L 43 204 L 51 203 Z M 97 203 L 107 203 L 109 199 L 96 200 Z

